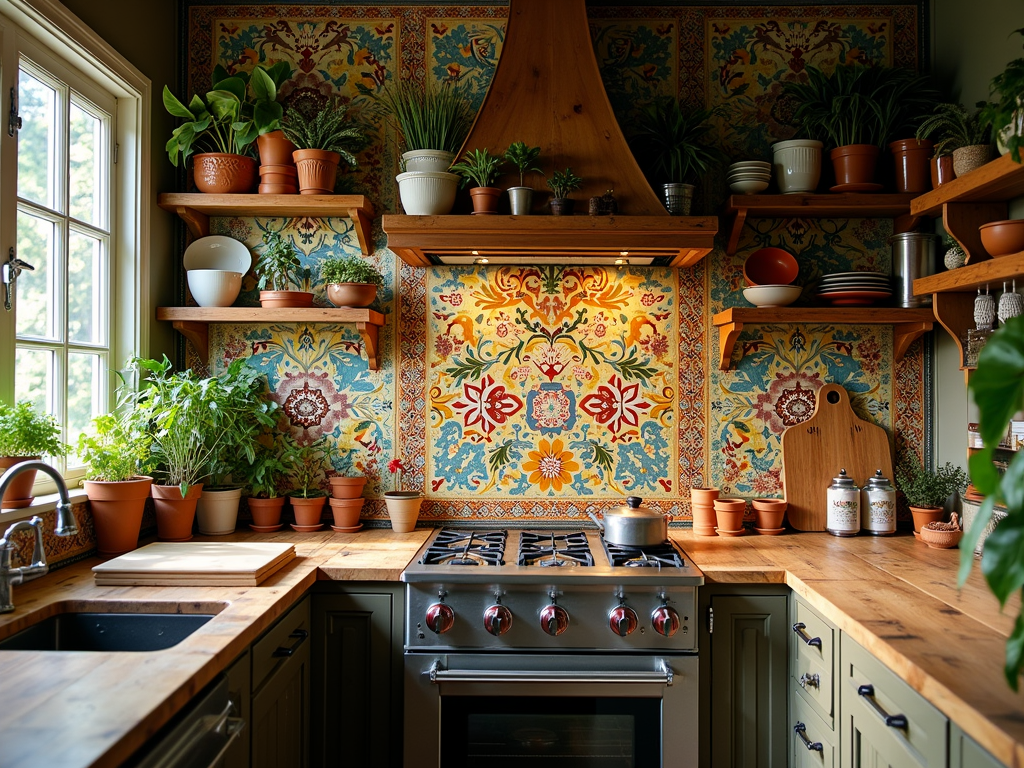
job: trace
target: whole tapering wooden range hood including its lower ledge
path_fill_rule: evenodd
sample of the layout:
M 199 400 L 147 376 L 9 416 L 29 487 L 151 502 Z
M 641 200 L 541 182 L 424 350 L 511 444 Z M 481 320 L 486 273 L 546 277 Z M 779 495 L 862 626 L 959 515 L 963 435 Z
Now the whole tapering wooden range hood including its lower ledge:
M 498 68 L 463 150 L 498 153 L 513 141 L 540 146 L 548 173 L 571 166 L 584 178 L 573 195 L 582 215 L 543 215 L 535 175 L 536 215 L 388 215 L 388 248 L 413 266 L 690 266 L 713 248 L 718 218 L 670 216 L 633 159 L 601 82 L 585 0 L 511 0 Z M 607 189 L 618 214 L 587 215 L 589 198 Z

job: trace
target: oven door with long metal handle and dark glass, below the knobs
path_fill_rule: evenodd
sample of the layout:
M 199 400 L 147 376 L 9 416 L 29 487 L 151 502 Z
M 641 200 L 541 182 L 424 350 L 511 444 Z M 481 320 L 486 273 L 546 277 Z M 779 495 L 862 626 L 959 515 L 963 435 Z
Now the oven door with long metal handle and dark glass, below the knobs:
M 693 654 L 406 654 L 407 768 L 685 768 L 696 739 Z

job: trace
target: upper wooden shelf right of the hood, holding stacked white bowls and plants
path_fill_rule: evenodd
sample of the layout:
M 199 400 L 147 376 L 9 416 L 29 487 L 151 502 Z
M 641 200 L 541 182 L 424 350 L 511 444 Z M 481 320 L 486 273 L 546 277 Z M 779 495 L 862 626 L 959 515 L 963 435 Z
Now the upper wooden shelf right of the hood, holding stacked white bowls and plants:
M 918 218 L 910 214 L 912 195 L 732 195 L 722 215 L 728 221 L 725 252 L 732 255 L 748 218 L 859 218 L 879 216 L 895 219 L 895 230 L 912 230 Z

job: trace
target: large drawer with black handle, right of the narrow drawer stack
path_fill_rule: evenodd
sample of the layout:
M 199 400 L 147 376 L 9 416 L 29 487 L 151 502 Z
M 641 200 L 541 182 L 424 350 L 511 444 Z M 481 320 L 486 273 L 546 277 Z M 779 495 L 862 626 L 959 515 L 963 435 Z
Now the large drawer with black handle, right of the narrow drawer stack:
M 945 715 L 845 634 L 841 657 L 844 765 L 944 768 Z

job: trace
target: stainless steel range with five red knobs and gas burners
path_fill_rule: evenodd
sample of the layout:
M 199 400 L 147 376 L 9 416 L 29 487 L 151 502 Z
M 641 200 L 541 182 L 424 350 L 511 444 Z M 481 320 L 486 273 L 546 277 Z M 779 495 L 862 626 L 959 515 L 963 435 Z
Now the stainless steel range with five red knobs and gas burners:
M 401 579 L 407 768 L 696 765 L 703 574 L 671 542 L 442 528 Z

